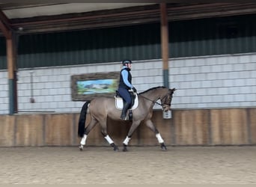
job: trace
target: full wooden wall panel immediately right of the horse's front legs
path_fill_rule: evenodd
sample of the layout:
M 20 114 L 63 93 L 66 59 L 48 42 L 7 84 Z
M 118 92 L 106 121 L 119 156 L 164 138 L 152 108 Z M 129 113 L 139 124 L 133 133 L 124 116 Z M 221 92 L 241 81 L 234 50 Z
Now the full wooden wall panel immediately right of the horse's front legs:
M 177 145 L 205 145 L 208 141 L 207 110 L 174 111 Z

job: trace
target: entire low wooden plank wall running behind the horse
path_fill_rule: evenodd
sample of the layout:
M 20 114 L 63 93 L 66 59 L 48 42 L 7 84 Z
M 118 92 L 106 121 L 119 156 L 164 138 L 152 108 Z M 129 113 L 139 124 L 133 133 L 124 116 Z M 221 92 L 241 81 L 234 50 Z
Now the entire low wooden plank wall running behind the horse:
M 0 115 L 0 147 L 76 146 L 79 114 Z M 90 120 L 88 117 L 87 123 Z M 154 111 L 153 123 L 166 145 L 253 145 L 256 144 L 256 108 L 173 110 L 172 118 L 162 119 Z M 108 120 L 109 135 L 122 145 L 129 122 Z M 87 145 L 107 146 L 96 126 Z M 155 135 L 144 123 L 132 135 L 129 145 L 158 145 Z

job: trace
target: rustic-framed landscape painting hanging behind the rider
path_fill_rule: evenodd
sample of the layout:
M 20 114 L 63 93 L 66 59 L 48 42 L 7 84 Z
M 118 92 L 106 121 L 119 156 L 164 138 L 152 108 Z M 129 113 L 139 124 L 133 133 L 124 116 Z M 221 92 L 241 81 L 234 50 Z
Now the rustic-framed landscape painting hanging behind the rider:
M 97 96 L 115 96 L 119 73 L 88 73 L 71 76 L 72 100 L 86 101 Z

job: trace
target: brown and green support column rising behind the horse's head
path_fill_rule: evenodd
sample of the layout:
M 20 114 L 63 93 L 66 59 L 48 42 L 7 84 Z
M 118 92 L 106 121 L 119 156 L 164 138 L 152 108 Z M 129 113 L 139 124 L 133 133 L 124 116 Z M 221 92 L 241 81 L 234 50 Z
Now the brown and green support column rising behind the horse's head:
M 168 19 L 166 4 L 160 4 L 161 10 L 161 48 L 162 48 L 162 67 L 163 67 L 163 83 L 166 88 L 169 88 L 169 71 L 168 71 Z

